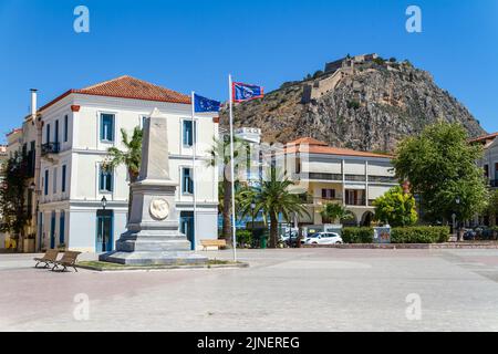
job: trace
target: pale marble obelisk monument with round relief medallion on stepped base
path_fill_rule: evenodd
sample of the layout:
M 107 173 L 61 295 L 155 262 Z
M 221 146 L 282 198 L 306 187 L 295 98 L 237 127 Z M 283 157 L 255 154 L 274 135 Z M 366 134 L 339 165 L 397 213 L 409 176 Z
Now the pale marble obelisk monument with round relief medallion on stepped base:
M 190 241 L 178 231 L 177 185 L 169 177 L 166 118 L 155 108 L 144 124 L 141 173 L 131 186 L 127 231 L 116 241 L 116 250 L 98 260 L 137 266 L 207 263 L 206 257 L 190 251 Z

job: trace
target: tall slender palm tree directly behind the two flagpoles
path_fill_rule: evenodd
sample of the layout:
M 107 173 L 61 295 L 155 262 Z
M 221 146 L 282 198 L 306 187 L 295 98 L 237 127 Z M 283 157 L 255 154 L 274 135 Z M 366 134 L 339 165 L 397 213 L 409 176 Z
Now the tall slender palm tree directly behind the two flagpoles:
M 247 150 L 248 144 L 241 139 L 234 138 L 234 163 L 235 169 L 242 162 L 245 154 L 239 152 Z M 222 230 L 221 237 L 227 241 L 227 247 L 232 247 L 231 235 L 231 178 L 230 178 L 230 140 L 228 136 L 221 139 L 214 138 L 212 147 L 209 150 L 211 158 L 208 160 L 209 166 L 217 166 L 222 163 L 224 178 L 221 185 L 218 187 L 219 208 L 222 215 Z

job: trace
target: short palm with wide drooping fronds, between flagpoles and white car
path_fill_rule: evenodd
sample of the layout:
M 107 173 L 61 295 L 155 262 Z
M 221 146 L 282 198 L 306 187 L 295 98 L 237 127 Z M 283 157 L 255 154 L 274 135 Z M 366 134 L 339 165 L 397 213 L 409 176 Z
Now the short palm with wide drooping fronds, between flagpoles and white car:
M 269 170 L 270 179 L 263 180 L 259 187 L 247 187 L 241 191 L 241 212 L 247 216 L 252 212 L 251 204 L 255 204 L 255 212 L 262 212 L 264 222 L 270 219 L 270 248 L 278 243 L 279 215 L 290 222 L 294 215 L 308 215 L 305 204 L 300 195 L 292 194 L 289 187 L 294 183 L 279 174 L 274 167 Z

